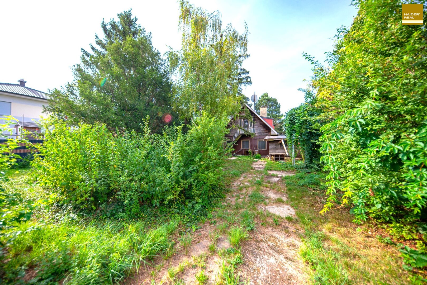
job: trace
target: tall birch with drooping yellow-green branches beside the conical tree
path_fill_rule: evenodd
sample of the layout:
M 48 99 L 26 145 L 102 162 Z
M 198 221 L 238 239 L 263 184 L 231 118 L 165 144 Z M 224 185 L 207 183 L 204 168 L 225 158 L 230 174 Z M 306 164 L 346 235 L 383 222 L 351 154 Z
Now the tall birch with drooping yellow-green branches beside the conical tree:
M 211 116 L 235 115 L 244 96 L 242 86 L 252 84 L 243 67 L 248 28 L 239 34 L 231 24 L 222 27 L 221 14 L 179 1 L 182 49 L 170 51 L 170 65 L 177 75 L 175 108 L 190 119 L 205 111 Z

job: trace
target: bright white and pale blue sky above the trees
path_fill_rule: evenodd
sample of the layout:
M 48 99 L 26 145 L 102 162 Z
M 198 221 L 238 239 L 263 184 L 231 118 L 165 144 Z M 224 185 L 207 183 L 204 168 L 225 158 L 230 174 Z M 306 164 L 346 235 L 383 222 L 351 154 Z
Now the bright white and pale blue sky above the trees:
M 311 75 L 307 52 L 322 62 L 332 50 L 336 28 L 350 26 L 357 14 L 350 0 L 226 1 L 192 0 L 210 12 L 219 10 L 224 25 L 232 23 L 243 32 L 249 25 L 250 58 L 244 67 L 250 71 L 252 86 L 244 90 L 250 97 L 268 92 L 286 112 L 304 101 L 298 88 Z M 153 45 L 164 53 L 167 46 L 179 49 L 178 3 L 157 1 L 0 1 L 0 82 L 18 83 L 41 91 L 59 88 L 71 81 L 70 66 L 80 60 L 80 48 L 89 50 L 94 35 L 102 36 L 102 18 L 132 8 L 132 14 L 147 32 Z

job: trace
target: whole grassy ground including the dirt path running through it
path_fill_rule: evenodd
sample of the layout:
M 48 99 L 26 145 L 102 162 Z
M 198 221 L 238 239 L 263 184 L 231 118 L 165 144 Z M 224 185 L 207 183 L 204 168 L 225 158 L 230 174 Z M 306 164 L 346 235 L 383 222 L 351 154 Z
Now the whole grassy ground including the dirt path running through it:
M 325 199 L 322 173 L 270 161 L 265 169 L 254 170 L 254 162 L 251 157 L 225 161 L 225 198 L 192 228 L 178 215 L 153 224 L 152 217 L 82 217 L 41 202 L 6 249 L 2 281 L 422 284 L 403 269 L 396 247 L 381 243 L 369 226 L 352 223 L 348 209 L 319 214 Z M 6 189 L 19 189 L 35 201 L 49 199 L 30 172 L 11 171 Z M 270 212 L 277 209 L 290 214 Z

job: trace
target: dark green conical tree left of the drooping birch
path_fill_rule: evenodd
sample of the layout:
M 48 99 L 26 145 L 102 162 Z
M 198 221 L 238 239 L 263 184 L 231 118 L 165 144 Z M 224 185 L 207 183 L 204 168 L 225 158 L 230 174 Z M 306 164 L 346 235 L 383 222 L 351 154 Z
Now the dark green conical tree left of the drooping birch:
M 95 35 L 92 53 L 82 49 L 81 63 L 73 66 L 73 82 L 50 92 L 45 109 L 76 124 L 104 123 L 110 130 L 137 132 L 149 115 L 152 131 L 161 132 L 161 126 L 170 123 L 163 115 L 171 112 L 167 63 L 131 10 L 117 16 L 118 21 L 102 21 L 104 39 Z

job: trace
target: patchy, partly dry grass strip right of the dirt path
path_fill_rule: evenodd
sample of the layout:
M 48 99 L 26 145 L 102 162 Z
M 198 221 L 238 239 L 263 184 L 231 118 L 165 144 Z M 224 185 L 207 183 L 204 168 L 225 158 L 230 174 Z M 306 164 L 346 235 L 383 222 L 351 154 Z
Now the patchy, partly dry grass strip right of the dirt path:
M 318 173 L 285 176 L 288 202 L 296 211 L 295 222 L 303 229 L 299 254 L 316 284 L 413 284 L 417 281 L 402 268 L 396 247 L 383 244 L 369 226 L 352 223 L 349 209 L 319 214 L 324 192 Z

